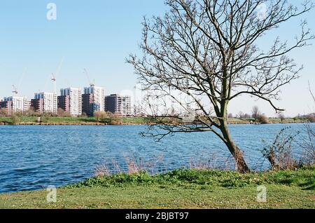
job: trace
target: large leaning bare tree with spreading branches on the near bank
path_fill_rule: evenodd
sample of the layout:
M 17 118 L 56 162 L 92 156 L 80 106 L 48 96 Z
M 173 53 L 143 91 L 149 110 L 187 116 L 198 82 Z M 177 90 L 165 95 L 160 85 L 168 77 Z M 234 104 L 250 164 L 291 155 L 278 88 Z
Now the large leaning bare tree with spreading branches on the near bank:
M 244 155 L 228 129 L 228 104 L 235 97 L 251 95 L 267 101 L 276 112 L 283 110 L 274 100 L 279 99 L 281 86 L 297 79 L 302 69 L 288 53 L 307 46 L 314 36 L 303 21 L 293 43 L 278 37 L 268 50 L 261 50 L 258 40 L 283 22 L 310 11 L 314 4 L 304 1 L 300 8 L 287 0 L 166 0 L 165 4 L 170 10 L 164 17 L 144 18 L 140 46 L 144 56 L 130 55 L 127 62 L 134 66 L 143 90 L 154 91 L 155 102 L 168 96 L 189 110 L 193 101 L 195 111 L 203 116 L 195 116 L 195 125 L 158 122 L 163 131 L 151 126 L 148 135 L 211 131 L 235 157 L 238 170 L 248 172 Z M 172 90 L 191 101 L 179 99 Z

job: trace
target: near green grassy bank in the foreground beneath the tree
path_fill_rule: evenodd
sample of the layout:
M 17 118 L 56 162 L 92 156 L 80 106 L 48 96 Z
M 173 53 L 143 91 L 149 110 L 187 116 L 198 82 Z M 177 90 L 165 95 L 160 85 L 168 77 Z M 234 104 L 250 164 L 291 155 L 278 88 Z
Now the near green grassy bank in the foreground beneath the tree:
M 267 188 L 258 203 L 257 186 Z M 248 173 L 174 170 L 162 175 L 119 174 L 94 177 L 47 191 L 1 194 L 0 208 L 315 208 L 315 167 Z

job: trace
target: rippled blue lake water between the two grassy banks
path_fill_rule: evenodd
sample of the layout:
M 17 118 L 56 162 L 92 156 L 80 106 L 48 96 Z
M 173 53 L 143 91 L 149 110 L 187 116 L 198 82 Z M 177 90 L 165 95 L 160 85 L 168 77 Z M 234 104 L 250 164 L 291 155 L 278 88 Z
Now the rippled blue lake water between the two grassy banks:
M 251 168 L 262 163 L 262 140 L 282 128 L 304 135 L 303 124 L 231 125 L 230 131 Z M 315 128 L 315 124 L 311 124 Z M 141 137 L 146 126 L 0 126 L 0 193 L 44 189 L 80 182 L 95 168 L 127 170 L 129 161 L 159 172 L 197 163 L 224 167 L 230 156 L 212 133 L 181 133 L 160 142 Z M 301 154 L 295 147 L 294 153 Z M 120 168 L 118 168 L 118 165 Z

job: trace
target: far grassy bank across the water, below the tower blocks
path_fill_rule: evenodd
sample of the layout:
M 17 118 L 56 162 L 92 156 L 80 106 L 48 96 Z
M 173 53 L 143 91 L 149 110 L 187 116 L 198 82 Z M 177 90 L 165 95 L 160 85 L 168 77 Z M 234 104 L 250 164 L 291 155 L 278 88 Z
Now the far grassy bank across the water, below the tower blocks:
M 249 124 L 253 123 L 253 119 L 228 119 L 230 124 Z M 304 119 L 269 119 L 269 123 L 304 123 Z M 146 117 L 124 117 L 118 120 L 109 118 L 97 120 L 94 117 L 43 117 L 38 122 L 35 116 L 0 116 L 0 125 L 146 125 L 152 123 L 150 118 Z

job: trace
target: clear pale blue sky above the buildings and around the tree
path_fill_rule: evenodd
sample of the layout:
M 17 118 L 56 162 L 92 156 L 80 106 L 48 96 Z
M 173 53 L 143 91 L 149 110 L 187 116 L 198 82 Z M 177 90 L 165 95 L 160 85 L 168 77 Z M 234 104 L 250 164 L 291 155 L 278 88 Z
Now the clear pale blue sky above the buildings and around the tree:
M 57 20 L 47 20 L 47 4 L 57 6 Z M 106 88 L 106 94 L 133 90 L 136 76 L 125 58 L 139 52 L 141 21 L 144 15 L 162 15 L 166 7 L 162 0 L 1 0 L 0 4 L 0 96 L 12 95 L 12 85 L 19 85 L 22 72 L 27 73 L 19 88 L 20 95 L 33 97 L 35 92 L 52 91 L 49 77 L 56 72 L 57 89 L 67 86 L 88 86 L 83 74 L 86 68 L 90 79 Z M 315 11 L 304 16 L 315 32 Z M 300 18 L 277 31 L 283 38 L 299 32 Z M 314 43 L 314 42 L 313 42 Z M 286 115 L 307 114 L 314 111 L 314 103 L 307 90 L 310 81 L 315 91 L 315 46 L 296 50 L 291 54 L 305 69 L 302 78 L 283 88 L 281 101 Z M 239 98 L 230 105 L 229 112 L 251 112 L 258 104 L 269 116 L 274 111 L 265 102 Z

